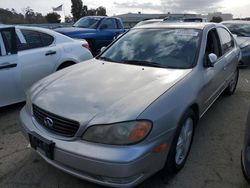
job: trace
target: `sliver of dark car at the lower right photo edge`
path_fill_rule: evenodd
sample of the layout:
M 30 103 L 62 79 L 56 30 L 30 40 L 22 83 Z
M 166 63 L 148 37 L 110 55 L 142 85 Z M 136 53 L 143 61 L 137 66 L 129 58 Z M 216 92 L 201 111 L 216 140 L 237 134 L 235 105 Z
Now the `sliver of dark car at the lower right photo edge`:
M 241 167 L 246 180 L 250 182 L 250 110 L 248 113 L 245 140 L 241 153 Z

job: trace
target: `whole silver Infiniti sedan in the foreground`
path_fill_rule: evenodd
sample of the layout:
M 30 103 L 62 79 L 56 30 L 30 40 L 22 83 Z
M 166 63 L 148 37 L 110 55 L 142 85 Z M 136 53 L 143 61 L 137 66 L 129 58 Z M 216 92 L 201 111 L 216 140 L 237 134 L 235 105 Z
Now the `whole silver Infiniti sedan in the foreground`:
M 98 184 L 177 173 L 198 120 L 221 93 L 234 93 L 239 56 L 221 24 L 132 28 L 96 59 L 36 83 L 23 133 L 48 163 Z

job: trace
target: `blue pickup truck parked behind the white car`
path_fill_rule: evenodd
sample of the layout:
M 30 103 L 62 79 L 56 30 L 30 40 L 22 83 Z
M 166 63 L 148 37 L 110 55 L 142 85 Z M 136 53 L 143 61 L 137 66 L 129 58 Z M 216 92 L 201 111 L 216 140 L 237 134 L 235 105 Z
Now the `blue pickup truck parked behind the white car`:
M 58 28 L 55 31 L 71 38 L 86 39 L 94 55 L 108 46 L 117 35 L 125 32 L 120 18 L 107 16 L 86 16 L 72 27 Z

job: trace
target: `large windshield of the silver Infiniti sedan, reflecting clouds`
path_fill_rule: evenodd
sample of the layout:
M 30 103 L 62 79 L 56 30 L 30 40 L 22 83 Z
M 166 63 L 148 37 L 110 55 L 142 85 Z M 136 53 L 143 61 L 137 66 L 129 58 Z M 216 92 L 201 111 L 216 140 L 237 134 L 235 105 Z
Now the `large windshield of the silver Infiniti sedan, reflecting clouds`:
M 99 59 L 116 63 L 188 69 L 194 66 L 200 30 L 132 29 Z

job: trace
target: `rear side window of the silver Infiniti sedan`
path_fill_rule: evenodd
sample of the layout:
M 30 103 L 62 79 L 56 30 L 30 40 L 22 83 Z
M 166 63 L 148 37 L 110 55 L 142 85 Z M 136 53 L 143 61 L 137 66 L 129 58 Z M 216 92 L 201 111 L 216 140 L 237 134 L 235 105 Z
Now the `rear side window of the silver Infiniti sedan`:
M 217 28 L 217 31 L 220 36 L 222 52 L 225 54 L 234 47 L 234 39 L 224 28 Z

